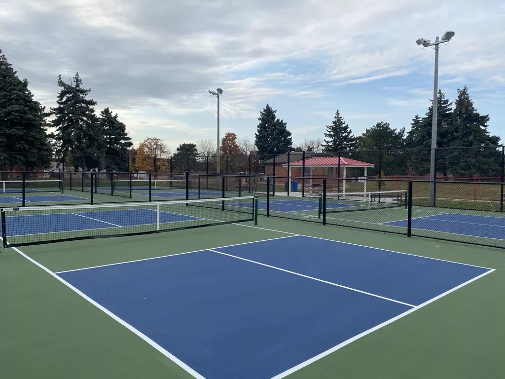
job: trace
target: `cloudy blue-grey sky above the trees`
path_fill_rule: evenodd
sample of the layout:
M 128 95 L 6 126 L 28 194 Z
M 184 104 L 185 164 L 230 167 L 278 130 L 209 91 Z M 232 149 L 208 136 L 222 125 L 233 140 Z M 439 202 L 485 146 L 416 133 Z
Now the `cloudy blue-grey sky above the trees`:
M 500 26 L 501 25 L 501 26 Z M 57 78 L 79 72 L 96 112 L 118 113 L 137 145 L 254 139 L 268 103 L 293 144 L 322 137 L 336 110 L 356 135 L 379 121 L 408 130 L 439 88 L 467 85 L 488 130 L 505 139 L 505 2 L 485 0 L 3 0 L 0 49 L 35 99 L 56 105 Z M 503 142 L 503 141 L 502 141 Z

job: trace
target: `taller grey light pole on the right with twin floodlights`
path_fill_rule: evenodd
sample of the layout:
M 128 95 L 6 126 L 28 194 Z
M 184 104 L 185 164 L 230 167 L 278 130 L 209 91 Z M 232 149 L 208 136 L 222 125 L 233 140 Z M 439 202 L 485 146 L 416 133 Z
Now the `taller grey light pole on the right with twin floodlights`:
M 430 180 L 435 180 L 436 167 L 435 167 L 435 155 L 437 148 L 437 108 L 438 108 L 438 48 L 440 43 L 447 43 L 454 36 L 453 31 L 446 31 L 442 35 L 442 39 L 439 40 L 436 37 L 435 42 L 431 42 L 429 39 L 419 38 L 416 43 L 422 45 L 424 48 L 429 46 L 434 46 L 435 49 L 435 77 L 433 79 L 433 119 L 431 122 L 431 158 L 430 158 Z M 430 182 L 430 207 L 435 206 L 435 183 Z

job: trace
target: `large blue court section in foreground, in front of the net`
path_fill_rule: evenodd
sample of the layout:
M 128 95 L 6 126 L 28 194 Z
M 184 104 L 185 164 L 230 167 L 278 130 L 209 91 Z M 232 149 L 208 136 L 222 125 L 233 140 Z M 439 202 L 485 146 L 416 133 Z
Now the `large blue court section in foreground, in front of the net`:
M 195 376 L 266 379 L 491 271 L 294 235 L 57 274 Z

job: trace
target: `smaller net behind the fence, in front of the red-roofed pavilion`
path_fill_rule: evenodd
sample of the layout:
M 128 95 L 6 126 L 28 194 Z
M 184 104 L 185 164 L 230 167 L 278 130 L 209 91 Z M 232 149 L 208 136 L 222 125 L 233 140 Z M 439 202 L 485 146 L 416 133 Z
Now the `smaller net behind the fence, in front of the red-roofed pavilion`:
M 326 193 L 326 213 L 406 207 L 406 191 Z

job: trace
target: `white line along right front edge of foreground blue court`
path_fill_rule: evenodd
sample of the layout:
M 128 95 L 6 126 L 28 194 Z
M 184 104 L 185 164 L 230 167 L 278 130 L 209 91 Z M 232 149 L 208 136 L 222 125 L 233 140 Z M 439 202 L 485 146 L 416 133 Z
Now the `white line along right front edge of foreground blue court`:
M 379 324 L 377 326 L 374 326 L 374 327 L 372 327 L 372 328 L 370 328 L 368 330 L 365 330 L 363 333 L 360 333 L 359 335 L 356 335 L 356 336 L 354 336 L 352 338 L 349 338 L 348 340 L 346 340 L 346 341 L 344 341 L 344 342 L 342 342 L 342 343 L 340 343 L 340 344 L 332 347 L 331 349 L 328 349 L 328 350 L 322 352 L 321 354 L 316 355 L 315 357 L 312 357 L 312 358 L 306 360 L 305 362 L 302 362 L 302 363 L 300 363 L 300 364 L 298 364 L 298 365 L 296 365 L 294 367 L 291 367 L 290 369 L 288 369 L 288 370 L 286 370 L 284 372 L 281 372 L 278 375 L 275 375 L 274 377 L 272 377 L 272 379 L 281 379 L 283 377 L 286 377 L 286 376 L 292 374 L 293 372 L 298 371 L 300 368 L 303 368 L 305 366 L 308 366 L 311 363 L 316 362 L 317 360 L 319 360 L 319 359 L 321 359 L 321 358 L 323 358 L 323 357 L 325 357 L 325 356 L 327 356 L 327 355 L 329 355 L 329 354 L 331 354 L 331 353 L 333 353 L 333 352 L 335 352 L 335 351 L 343 348 L 344 346 L 349 345 L 351 342 L 355 342 L 356 340 L 359 340 L 360 338 L 365 337 L 366 335 L 369 335 L 373 331 L 378 330 L 378 329 L 380 329 L 380 328 L 382 328 L 382 327 L 384 327 L 384 326 L 386 326 L 386 325 L 388 325 L 388 324 L 390 324 L 390 323 L 392 323 L 392 322 L 394 322 L 394 321 L 396 321 L 396 320 L 398 320 L 398 319 L 400 319 L 402 317 L 405 317 L 408 314 L 410 314 L 410 313 L 412 313 L 414 311 L 417 311 L 418 309 L 420 309 L 420 308 L 422 308 L 422 307 L 424 307 L 424 306 L 426 306 L 426 305 L 428 305 L 430 303 L 433 303 L 435 300 L 438 300 L 438 299 L 440 299 L 440 298 L 442 298 L 442 297 L 450 294 L 451 292 L 459 290 L 460 288 L 468 285 L 472 281 L 480 279 L 481 277 L 483 277 L 483 276 L 485 276 L 485 275 L 487 275 L 487 274 L 489 274 L 489 273 L 491 273 L 493 271 L 494 271 L 494 269 L 490 269 L 489 271 L 484 272 L 484 273 L 480 274 L 479 276 L 476 276 L 476 277 L 474 277 L 474 278 L 472 278 L 472 279 L 470 279 L 470 280 L 462 283 L 461 285 L 459 285 L 459 286 L 457 286 L 455 288 L 452 288 L 449 291 L 446 291 L 443 294 L 440 294 L 440 295 L 434 297 L 433 299 L 430 299 L 430 300 L 428 300 L 428 301 L 426 301 L 426 302 L 418 305 L 415 308 L 409 309 L 407 312 L 403 312 L 403 313 L 397 315 L 396 317 L 390 318 L 389 320 L 384 321 L 383 323 L 381 323 L 381 324 Z

